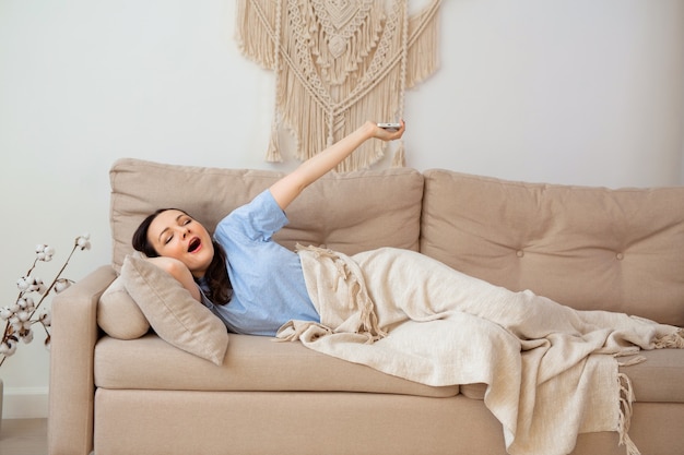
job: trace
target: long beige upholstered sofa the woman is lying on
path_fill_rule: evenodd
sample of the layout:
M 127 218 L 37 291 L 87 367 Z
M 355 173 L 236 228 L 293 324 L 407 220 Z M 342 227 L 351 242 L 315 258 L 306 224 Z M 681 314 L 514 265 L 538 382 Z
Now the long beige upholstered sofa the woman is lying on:
M 431 387 L 299 343 L 234 334 L 215 366 L 152 331 L 118 339 L 98 327 L 99 298 L 144 215 L 178 207 L 213 226 L 278 176 L 114 165 L 113 264 L 54 302 L 51 455 L 505 453 L 480 384 Z M 404 168 L 327 176 L 287 213 L 276 238 L 287 247 L 420 250 L 514 290 L 684 326 L 684 188 L 608 190 Z M 105 315 L 126 321 L 123 313 L 101 310 L 101 326 Z M 629 434 L 644 455 L 684 454 L 684 350 L 644 355 L 646 362 L 623 368 L 637 398 Z M 573 453 L 624 454 L 617 442 L 612 432 L 581 434 Z

